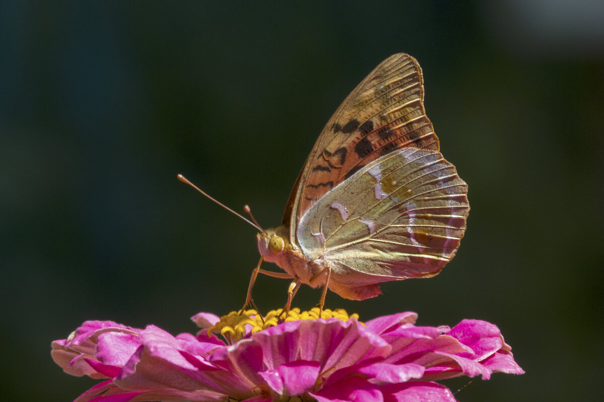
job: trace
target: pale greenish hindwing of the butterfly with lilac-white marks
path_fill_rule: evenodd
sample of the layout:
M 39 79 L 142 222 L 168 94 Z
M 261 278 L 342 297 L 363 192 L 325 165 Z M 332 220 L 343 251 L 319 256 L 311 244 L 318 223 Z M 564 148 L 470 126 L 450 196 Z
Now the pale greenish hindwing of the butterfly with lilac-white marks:
M 428 277 L 457 251 L 468 210 L 467 185 L 440 152 L 405 148 L 327 192 L 304 214 L 297 240 L 341 284 Z

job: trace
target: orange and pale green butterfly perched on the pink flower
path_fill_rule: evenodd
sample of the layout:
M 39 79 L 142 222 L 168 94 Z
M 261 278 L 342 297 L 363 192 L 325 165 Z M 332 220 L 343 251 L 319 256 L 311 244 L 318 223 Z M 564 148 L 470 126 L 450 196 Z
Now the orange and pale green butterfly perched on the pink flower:
M 257 225 L 261 257 L 244 309 L 255 306 L 259 273 L 293 279 L 286 311 L 301 284 L 323 286 L 322 309 L 327 289 L 376 297 L 380 283 L 432 277 L 455 256 L 467 184 L 439 152 L 423 95 L 419 63 L 401 53 L 342 102 L 298 175 L 282 225 Z M 285 273 L 260 269 L 263 260 Z

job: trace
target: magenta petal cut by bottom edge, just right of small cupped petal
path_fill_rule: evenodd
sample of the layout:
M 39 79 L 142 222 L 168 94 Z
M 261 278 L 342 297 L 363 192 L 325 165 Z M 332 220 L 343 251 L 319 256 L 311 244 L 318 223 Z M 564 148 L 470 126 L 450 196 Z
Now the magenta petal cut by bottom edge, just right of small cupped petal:
M 348 377 L 319 392 L 309 392 L 318 402 L 384 402 L 378 386 L 361 377 Z

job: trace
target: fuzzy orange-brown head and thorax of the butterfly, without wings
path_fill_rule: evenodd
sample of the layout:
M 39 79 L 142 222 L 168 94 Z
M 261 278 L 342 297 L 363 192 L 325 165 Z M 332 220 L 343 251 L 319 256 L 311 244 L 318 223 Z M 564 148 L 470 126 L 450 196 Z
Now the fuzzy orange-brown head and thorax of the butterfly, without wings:
M 268 262 L 277 264 L 283 271 L 312 287 L 320 286 L 324 281 L 321 275 L 325 268 L 320 261 L 308 259 L 300 247 L 289 242 L 289 227 L 281 225 L 258 233 L 258 251 Z

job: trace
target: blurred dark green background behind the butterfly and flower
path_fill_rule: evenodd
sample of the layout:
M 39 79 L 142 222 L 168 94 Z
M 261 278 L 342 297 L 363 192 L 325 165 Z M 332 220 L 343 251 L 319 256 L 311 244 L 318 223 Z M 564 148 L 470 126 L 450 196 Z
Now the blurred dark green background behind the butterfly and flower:
M 86 319 L 194 332 L 240 307 L 255 231 L 176 174 L 278 225 L 327 119 L 396 52 L 422 65 L 468 229 L 439 276 L 327 306 L 498 325 L 527 373 L 461 401 L 602 400 L 603 18 L 587 0 L 2 2 L 2 400 L 94 384 L 50 358 Z M 260 309 L 288 284 L 260 277 Z

